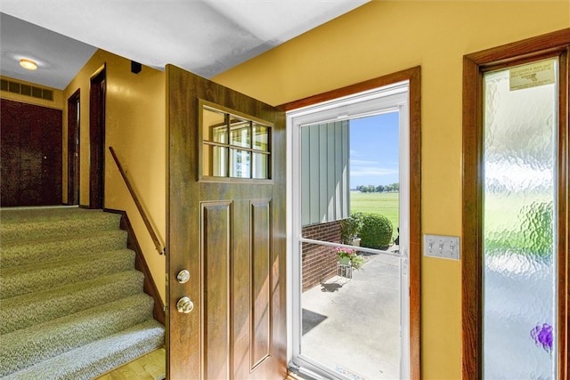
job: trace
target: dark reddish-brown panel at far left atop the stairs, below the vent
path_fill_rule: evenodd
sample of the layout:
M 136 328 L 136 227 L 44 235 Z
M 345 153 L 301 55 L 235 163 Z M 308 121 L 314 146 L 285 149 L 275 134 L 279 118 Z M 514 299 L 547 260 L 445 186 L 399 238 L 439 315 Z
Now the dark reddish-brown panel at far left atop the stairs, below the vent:
M 2 206 L 61 205 L 61 110 L 3 99 Z

